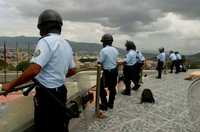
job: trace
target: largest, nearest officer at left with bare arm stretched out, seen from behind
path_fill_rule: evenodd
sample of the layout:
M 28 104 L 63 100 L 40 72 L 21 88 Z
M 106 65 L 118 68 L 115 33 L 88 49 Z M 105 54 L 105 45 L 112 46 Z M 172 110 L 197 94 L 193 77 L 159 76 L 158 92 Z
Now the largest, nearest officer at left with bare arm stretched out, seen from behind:
M 4 90 L 12 89 L 36 79 L 40 84 L 34 97 L 34 122 L 36 132 L 65 132 L 64 110 L 49 93 L 63 105 L 67 90 L 65 77 L 75 74 L 72 48 L 60 35 L 61 16 L 54 10 L 43 11 L 38 19 L 41 38 L 37 43 L 30 66 L 16 80 L 3 84 Z M 47 93 L 47 91 L 49 93 Z

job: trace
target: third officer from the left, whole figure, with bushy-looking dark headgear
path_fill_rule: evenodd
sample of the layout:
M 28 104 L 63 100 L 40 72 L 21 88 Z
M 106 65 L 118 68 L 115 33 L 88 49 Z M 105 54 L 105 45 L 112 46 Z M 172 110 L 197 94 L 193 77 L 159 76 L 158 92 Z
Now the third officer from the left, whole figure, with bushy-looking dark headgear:
M 127 54 L 124 60 L 124 83 L 125 83 L 125 90 L 122 91 L 124 95 L 131 95 L 131 81 L 134 83 L 134 90 L 140 87 L 139 85 L 139 72 L 138 72 L 138 65 L 137 65 L 137 52 L 136 46 L 134 42 L 127 41 L 125 44 Z

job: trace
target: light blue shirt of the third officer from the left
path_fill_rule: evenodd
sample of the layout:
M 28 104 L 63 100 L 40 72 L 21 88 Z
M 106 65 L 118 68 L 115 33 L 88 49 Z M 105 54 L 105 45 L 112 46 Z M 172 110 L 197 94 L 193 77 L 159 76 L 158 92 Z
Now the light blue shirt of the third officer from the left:
M 137 52 L 135 50 L 129 50 L 125 58 L 126 65 L 132 66 L 137 63 Z

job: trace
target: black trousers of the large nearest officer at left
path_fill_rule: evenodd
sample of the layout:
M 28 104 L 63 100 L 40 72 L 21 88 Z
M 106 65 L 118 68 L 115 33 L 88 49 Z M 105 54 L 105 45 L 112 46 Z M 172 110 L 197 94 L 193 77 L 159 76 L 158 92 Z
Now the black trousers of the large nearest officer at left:
M 64 85 L 55 89 L 38 86 L 34 97 L 35 132 L 68 132 L 68 128 L 65 128 L 65 111 L 48 92 L 63 105 L 66 104 L 67 90 Z

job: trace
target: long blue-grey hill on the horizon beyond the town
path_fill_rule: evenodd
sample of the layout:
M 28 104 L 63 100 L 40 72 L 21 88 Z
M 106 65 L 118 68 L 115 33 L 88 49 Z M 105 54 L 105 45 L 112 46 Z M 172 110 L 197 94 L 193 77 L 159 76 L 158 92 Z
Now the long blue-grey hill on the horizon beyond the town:
M 6 43 L 8 48 L 16 48 L 16 43 L 19 48 L 28 49 L 34 48 L 39 37 L 26 37 L 26 36 L 17 36 L 17 37 L 0 37 L 0 47 L 3 48 L 3 44 Z M 75 53 L 79 55 L 85 54 L 98 54 L 100 49 L 102 48 L 101 44 L 97 43 L 86 43 L 86 42 L 74 42 L 70 41 L 70 45 L 72 46 Z M 118 48 L 120 52 L 120 56 L 125 56 L 126 51 L 124 49 Z M 146 58 L 153 58 L 156 54 L 153 53 L 143 53 Z

